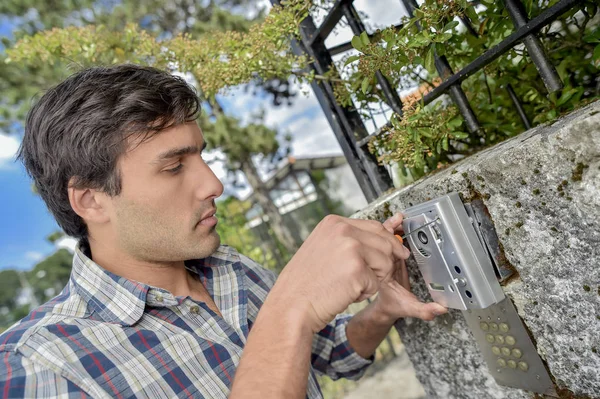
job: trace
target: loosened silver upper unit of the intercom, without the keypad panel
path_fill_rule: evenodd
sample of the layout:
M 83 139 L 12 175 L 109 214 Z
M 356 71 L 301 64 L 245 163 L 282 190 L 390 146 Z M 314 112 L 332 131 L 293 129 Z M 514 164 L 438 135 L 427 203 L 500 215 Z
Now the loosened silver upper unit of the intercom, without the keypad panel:
M 434 301 L 466 310 L 504 299 L 490 257 L 457 193 L 413 206 L 403 214 L 404 233 Z M 436 223 L 422 228 L 432 221 Z

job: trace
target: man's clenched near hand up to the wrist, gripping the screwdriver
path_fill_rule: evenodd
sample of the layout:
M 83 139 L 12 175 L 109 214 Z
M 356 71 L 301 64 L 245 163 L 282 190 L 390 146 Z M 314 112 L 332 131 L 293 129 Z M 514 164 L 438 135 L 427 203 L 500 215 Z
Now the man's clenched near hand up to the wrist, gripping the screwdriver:
M 397 268 L 409 255 L 382 223 L 330 215 L 281 272 L 269 297 L 304 315 L 316 333 L 349 304 L 381 286 L 393 287 Z

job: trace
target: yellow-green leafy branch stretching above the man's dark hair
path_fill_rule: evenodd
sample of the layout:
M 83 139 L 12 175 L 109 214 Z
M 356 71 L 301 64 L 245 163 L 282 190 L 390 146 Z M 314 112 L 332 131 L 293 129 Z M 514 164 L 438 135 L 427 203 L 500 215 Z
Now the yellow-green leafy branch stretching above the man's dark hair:
M 261 23 L 246 32 L 210 30 L 195 37 L 179 32 L 173 37 L 145 30 L 129 22 L 114 30 L 106 24 L 68 26 L 22 37 L 7 49 L 5 62 L 20 65 L 54 65 L 75 62 L 81 66 L 132 62 L 190 72 L 201 92 L 213 98 L 226 86 L 288 75 L 306 64 L 290 51 L 290 40 L 307 15 L 304 2 L 275 7 Z

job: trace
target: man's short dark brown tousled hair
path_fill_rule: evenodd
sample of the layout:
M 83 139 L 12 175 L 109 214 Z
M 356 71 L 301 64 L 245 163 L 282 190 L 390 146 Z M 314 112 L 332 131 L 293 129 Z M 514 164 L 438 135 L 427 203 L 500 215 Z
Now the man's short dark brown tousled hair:
M 60 227 L 85 242 L 87 226 L 71 208 L 69 181 L 118 195 L 117 160 L 127 139 L 139 134 L 146 140 L 195 120 L 199 111 L 195 90 L 168 72 L 131 64 L 86 69 L 32 107 L 18 159 Z

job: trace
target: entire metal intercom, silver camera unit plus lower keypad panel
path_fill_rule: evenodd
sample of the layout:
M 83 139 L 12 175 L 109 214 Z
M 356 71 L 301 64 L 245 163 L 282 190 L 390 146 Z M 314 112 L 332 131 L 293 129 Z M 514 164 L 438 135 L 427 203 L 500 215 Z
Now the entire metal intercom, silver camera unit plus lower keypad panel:
M 491 220 L 481 220 L 481 206 L 463 204 L 457 193 L 413 206 L 403 212 L 407 242 L 433 300 L 462 310 L 496 382 L 556 396 L 523 321 L 498 282 L 512 271 L 496 264 L 497 236 Z

